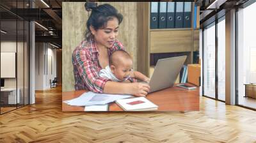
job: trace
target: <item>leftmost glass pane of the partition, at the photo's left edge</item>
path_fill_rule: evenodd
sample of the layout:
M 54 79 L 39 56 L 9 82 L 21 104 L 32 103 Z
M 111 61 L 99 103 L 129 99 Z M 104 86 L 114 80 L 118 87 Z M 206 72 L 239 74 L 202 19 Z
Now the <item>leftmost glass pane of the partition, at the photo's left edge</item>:
M 17 108 L 17 21 L 1 21 L 1 79 L 4 86 L 1 87 L 1 113 Z

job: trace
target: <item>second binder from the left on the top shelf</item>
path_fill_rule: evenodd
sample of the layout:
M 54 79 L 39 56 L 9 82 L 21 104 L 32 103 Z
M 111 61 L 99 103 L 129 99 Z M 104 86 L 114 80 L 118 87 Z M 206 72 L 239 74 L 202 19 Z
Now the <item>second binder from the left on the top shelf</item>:
M 160 2 L 159 4 L 159 28 L 166 28 L 167 2 Z

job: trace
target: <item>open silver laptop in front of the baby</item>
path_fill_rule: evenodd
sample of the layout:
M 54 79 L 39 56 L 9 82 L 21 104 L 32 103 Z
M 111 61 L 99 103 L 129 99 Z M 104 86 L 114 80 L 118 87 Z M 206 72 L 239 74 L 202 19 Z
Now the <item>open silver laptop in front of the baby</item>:
M 150 81 L 143 82 L 150 86 L 149 93 L 172 87 L 187 56 L 159 59 Z

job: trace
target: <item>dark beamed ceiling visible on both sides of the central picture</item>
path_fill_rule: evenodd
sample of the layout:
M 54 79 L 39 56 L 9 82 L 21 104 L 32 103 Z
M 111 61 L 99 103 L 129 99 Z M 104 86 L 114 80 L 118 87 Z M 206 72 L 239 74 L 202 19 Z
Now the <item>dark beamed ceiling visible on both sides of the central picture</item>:
M 62 2 L 67 1 L 74 0 L 30 0 L 30 3 L 29 0 L 0 0 L 1 29 L 8 31 L 6 38 L 17 34 L 19 38 L 24 27 L 18 22 L 16 32 L 16 19 L 35 20 L 36 41 L 51 42 L 61 47 Z M 200 6 L 200 26 L 221 10 L 229 10 L 246 1 L 248 0 L 196 0 L 196 4 Z

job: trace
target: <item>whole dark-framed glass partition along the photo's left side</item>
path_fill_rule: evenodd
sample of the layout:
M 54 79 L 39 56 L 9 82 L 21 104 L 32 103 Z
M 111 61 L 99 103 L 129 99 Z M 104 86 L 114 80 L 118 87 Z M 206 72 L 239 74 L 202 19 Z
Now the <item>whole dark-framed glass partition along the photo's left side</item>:
M 10 11 L 28 8 L 27 3 L 0 1 L 9 4 Z M 10 11 L 0 8 L 0 114 L 29 103 L 29 22 Z

